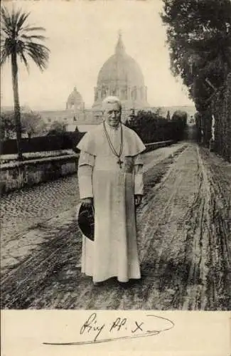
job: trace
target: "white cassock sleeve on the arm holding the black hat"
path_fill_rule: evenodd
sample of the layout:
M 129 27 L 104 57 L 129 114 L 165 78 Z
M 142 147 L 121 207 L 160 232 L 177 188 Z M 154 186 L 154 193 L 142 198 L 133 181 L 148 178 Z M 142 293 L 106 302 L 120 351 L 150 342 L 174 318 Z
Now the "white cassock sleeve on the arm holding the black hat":
M 92 172 L 94 165 L 95 156 L 81 151 L 77 169 L 80 199 L 93 197 Z

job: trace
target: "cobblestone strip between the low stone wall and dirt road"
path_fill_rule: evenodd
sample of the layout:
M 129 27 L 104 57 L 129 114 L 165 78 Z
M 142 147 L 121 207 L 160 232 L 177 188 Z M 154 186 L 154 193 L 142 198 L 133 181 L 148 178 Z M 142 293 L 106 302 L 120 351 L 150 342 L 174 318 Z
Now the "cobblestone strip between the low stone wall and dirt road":
M 1 198 L 1 246 L 75 206 L 77 175 L 11 192 Z

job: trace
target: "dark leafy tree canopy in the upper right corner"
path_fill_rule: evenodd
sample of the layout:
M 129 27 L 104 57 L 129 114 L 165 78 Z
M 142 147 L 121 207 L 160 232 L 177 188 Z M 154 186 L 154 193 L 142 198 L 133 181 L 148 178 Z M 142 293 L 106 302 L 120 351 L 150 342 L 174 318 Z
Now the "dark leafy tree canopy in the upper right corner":
M 231 1 L 163 0 L 173 75 L 181 75 L 198 110 L 231 70 Z

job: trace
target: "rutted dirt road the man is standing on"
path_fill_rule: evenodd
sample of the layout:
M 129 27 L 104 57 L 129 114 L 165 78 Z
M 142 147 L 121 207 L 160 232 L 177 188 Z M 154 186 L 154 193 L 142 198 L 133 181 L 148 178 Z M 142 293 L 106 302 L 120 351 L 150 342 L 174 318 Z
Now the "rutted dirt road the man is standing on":
M 230 165 L 193 143 L 145 159 L 141 281 L 93 286 L 82 276 L 81 235 L 67 211 L 65 224 L 44 224 L 48 238 L 5 273 L 2 308 L 230 310 Z

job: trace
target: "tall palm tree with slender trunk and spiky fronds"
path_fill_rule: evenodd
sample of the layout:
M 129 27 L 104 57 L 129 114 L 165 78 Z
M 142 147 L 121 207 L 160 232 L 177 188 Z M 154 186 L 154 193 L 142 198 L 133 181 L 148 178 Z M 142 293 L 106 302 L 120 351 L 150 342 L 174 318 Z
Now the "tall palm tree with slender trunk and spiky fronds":
M 48 64 L 49 49 L 40 41 L 45 37 L 38 31 L 45 31 L 43 27 L 33 27 L 26 23 L 30 13 L 6 7 L 1 8 L 1 66 L 9 59 L 11 61 L 12 84 L 14 93 L 14 118 L 16 123 L 16 137 L 18 159 L 23 159 L 21 152 L 21 112 L 18 97 L 18 59 L 27 70 L 28 59 L 31 58 L 38 68 L 44 70 Z

